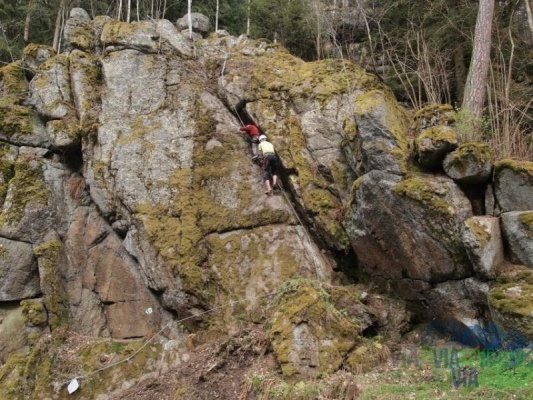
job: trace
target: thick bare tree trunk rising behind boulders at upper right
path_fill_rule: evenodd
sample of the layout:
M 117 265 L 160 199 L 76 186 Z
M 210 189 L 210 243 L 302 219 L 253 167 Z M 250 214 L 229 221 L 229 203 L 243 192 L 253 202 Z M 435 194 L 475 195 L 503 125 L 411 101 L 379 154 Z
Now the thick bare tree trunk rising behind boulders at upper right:
M 474 31 L 472 60 L 466 78 L 463 108 L 480 118 L 487 94 L 487 74 L 492 45 L 492 20 L 495 0 L 480 0 Z

